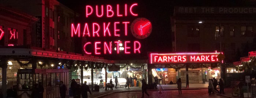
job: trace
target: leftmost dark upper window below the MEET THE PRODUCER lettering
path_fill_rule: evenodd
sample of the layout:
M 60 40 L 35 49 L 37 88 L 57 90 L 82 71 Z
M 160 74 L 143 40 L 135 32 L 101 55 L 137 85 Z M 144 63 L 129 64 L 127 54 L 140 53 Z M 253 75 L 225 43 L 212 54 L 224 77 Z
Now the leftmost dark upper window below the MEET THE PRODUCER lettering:
M 199 37 L 199 26 L 188 26 L 188 37 Z

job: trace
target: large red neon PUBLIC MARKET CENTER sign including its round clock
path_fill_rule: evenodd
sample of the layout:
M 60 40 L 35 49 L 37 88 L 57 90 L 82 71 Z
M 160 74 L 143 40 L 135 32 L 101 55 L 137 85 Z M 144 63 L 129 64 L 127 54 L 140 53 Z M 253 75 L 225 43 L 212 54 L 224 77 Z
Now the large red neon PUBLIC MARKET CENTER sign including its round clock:
M 117 17 L 127 17 L 128 15 L 131 16 L 138 16 L 136 12 L 134 12 L 134 8 L 138 6 L 137 3 L 128 5 L 119 5 L 116 4 L 115 8 L 112 5 L 96 5 L 95 7 L 91 5 L 85 6 L 85 17 L 89 18 L 92 17 L 92 15 L 95 15 L 95 17 L 102 18 L 112 18 L 114 16 Z M 95 9 L 94 9 L 95 8 Z M 114 10 L 115 9 L 115 10 Z M 142 19 L 138 18 L 137 20 Z M 143 18 L 143 20 L 147 20 Z M 151 32 L 151 22 L 148 20 L 145 22 L 137 22 L 134 21 L 133 24 L 136 24 L 136 27 L 132 25 L 132 28 L 136 29 L 136 32 L 140 31 L 140 33 L 136 33 L 137 35 L 134 36 L 139 39 L 143 39 L 148 37 L 149 31 Z M 120 37 L 122 35 L 128 36 L 128 25 L 130 24 L 129 21 L 115 21 L 115 22 L 102 22 L 102 23 L 85 23 L 85 24 L 71 24 L 71 37 L 93 37 L 93 38 L 99 38 L 99 37 Z M 121 31 L 120 27 L 123 27 L 124 31 Z M 134 35 L 134 34 L 133 34 Z M 137 37 L 139 36 L 139 37 Z M 120 54 L 119 51 L 119 44 L 124 44 L 124 53 L 125 54 L 131 54 L 131 53 L 141 53 L 141 43 L 139 41 L 88 41 L 85 42 L 83 46 L 83 50 L 85 54 L 112 54 L 113 52 L 113 46 L 116 46 L 116 54 Z M 87 49 L 89 46 L 92 46 L 94 50 L 89 51 Z M 133 46 L 133 47 L 132 47 Z M 103 52 L 103 53 L 101 53 Z

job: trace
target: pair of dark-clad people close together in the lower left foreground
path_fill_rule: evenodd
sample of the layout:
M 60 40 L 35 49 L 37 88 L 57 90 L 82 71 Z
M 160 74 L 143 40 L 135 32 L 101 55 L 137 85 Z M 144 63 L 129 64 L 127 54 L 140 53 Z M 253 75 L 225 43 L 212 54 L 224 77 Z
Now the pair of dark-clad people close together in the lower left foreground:
M 75 79 L 72 79 L 71 90 L 72 90 L 74 98 L 80 98 L 81 95 L 82 95 L 82 98 L 88 98 L 87 92 L 92 94 L 89 86 L 86 85 L 86 83 L 87 82 L 85 81 L 84 84 L 80 85 L 80 84 L 77 84 L 77 82 L 75 82 Z M 63 97 L 63 98 L 65 98 L 65 97 Z

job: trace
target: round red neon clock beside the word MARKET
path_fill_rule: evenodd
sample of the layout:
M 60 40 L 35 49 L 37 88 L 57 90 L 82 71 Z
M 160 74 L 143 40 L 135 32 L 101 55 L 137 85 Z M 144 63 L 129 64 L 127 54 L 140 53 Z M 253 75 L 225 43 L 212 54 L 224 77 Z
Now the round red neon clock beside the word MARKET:
M 138 39 L 147 38 L 152 31 L 152 24 L 146 18 L 137 18 L 131 23 L 131 33 Z

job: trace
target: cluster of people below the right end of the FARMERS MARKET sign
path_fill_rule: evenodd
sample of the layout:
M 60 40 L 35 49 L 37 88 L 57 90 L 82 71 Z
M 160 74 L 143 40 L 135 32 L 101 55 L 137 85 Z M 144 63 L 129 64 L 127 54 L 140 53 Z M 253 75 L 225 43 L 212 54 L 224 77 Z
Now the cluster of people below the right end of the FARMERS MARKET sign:
M 220 91 L 217 90 L 217 86 L 219 85 Z M 219 93 L 219 94 L 225 94 L 224 93 L 224 82 L 222 79 L 219 79 L 219 82 L 217 79 L 209 79 L 209 86 L 208 86 L 208 93 L 209 95 Z

